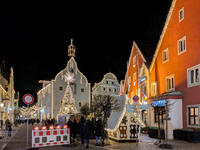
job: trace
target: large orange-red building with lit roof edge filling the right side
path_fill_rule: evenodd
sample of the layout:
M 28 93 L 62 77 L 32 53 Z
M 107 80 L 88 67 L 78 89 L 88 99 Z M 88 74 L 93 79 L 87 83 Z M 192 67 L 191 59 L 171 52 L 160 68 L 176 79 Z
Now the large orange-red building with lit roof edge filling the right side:
M 149 68 L 150 99 L 175 103 L 169 114 L 169 137 L 175 128 L 200 127 L 199 10 L 198 0 L 172 1 Z M 153 113 L 150 124 L 156 125 Z

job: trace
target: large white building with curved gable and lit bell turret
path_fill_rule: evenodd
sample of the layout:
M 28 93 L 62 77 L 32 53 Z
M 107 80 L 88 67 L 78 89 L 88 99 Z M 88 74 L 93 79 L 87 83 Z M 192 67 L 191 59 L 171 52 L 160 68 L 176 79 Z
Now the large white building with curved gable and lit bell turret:
M 58 111 L 60 110 L 61 100 L 63 99 L 67 83 L 64 81 L 63 75 L 70 71 L 74 73 L 75 81 L 70 83 L 73 97 L 75 99 L 77 111 L 80 112 L 80 108 L 85 103 L 90 103 L 90 91 L 91 84 L 88 83 L 87 78 L 78 70 L 77 63 L 74 59 L 76 48 L 72 43 L 68 47 L 69 61 L 65 69 L 61 70 L 54 79 L 51 81 L 40 80 L 43 83 L 43 88 L 37 93 L 38 107 L 44 107 L 45 109 L 38 112 L 40 119 L 56 118 Z

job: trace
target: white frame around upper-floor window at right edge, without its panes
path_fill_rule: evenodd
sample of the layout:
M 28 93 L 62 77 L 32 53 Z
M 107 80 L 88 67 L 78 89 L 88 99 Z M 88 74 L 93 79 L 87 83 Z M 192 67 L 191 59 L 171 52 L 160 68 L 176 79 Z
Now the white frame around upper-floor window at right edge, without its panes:
M 193 86 L 197 86 L 197 85 L 200 85 L 200 78 L 198 77 L 198 82 L 194 82 L 194 83 L 191 83 L 190 79 L 191 79 L 191 70 L 194 70 L 194 81 L 195 81 L 195 76 L 196 76 L 196 72 L 195 70 L 198 69 L 198 76 L 199 76 L 199 71 L 200 71 L 200 64 L 196 65 L 196 66 L 193 66 L 193 67 L 190 67 L 187 69 L 187 87 L 193 87 Z

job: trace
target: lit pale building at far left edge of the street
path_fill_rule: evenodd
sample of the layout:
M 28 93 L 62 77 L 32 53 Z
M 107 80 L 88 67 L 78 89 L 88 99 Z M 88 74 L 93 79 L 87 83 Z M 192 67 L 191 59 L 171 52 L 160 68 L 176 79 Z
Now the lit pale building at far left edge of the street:
M 19 97 L 15 97 L 14 71 L 12 67 L 10 69 L 9 80 L 5 76 L 5 61 L 2 61 L 2 65 L 0 65 L 0 119 L 3 120 L 3 123 L 5 123 L 6 119 L 14 123 L 16 117 L 14 102 L 18 101 Z M 18 109 L 17 105 L 15 107 Z

